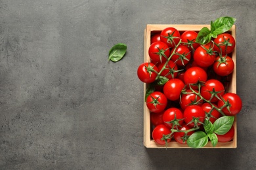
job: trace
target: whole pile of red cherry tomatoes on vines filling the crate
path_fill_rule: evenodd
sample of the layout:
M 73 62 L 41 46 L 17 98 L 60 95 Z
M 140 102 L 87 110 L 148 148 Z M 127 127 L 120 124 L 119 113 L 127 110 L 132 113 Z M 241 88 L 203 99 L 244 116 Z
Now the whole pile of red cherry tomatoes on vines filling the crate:
M 137 75 L 147 84 L 146 106 L 150 110 L 152 139 L 186 144 L 205 122 L 235 116 L 242 109 L 236 93 L 226 92 L 234 70 L 236 45 L 230 33 L 221 33 L 207 44 L 196 42 L 198 32 L 167 27 L 151 37 L 148 55 Z M 232 140 L 234 127 L 218 135 L 219 142 Z

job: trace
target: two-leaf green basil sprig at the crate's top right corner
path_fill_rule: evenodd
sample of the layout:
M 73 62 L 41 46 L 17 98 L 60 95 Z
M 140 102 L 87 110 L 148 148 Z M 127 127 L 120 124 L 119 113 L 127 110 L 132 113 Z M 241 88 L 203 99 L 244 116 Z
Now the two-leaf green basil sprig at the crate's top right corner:
M 196 37 L 196 42 L 200 44 L 207 44 L 211 41 L 211 38 L 217 38 L 221 33 L 228 31 L 232 25 L 236 22 L 236 18 L 230 16 L 223 16 L 217 18 L 214 22 L 211 21 L 211 29 L 203 27 Z

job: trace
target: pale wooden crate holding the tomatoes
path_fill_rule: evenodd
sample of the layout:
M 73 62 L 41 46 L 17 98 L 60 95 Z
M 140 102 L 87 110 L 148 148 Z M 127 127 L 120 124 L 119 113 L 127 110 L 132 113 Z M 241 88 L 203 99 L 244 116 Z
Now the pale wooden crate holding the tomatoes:
M 146 25 L 146 29 L 144 31 L 144 62 L 150 61 L 150 57 L 148 55 L 148 48 L 150 46 L 150 37 L 153 33 L 161 32 L 161 30 L 165 29 L 165 27 L 175 27 L 182 34 L 184 31 L 200 31 L 202 27 L 210 28 L 210 25 L 156 25 L 156 24 L 148 24 Z M 233 25 L 232 28 L 228 31 L 234 39 L 236 39 L 236 26 Z M 236 93 L 236 48 L 234 52 L 232 52 L 232 59 L 234 60 L 234 71 L 229 76 L 230 82 L 227 86 L 227 91 Z M 230 57 L 231 57 L 230 56 Z M 146 93 L 147 84 L 144 83 L 144 95 Z M 227 143 L 218 143 L 217 146 L 213 147 L 211 142 L 208 142 L 206 146 L 203 148 L 236 148 L 237 147 L 237 126 L 236 126 L 236 116 L 234 120 L 234 138 L 232 141 Z M 171 141 L 165 146 L 165 144 L 156 144 L 151 137 L 152 127 L 150 125 L 150 111 L 146 107 L 146 102 L 144 101 L 144 146 L 146 148 L 190 148 L 187 144 L 180 144 L 175 141 Z

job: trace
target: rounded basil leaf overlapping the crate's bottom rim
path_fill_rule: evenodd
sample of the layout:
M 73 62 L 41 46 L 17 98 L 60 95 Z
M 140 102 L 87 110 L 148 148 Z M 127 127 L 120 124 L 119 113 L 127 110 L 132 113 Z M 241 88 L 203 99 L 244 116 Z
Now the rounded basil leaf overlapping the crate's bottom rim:
M 208 143 L 208 137 L 203 131 L 196 131 L 186 141 L 191 148 L 201 148 Z

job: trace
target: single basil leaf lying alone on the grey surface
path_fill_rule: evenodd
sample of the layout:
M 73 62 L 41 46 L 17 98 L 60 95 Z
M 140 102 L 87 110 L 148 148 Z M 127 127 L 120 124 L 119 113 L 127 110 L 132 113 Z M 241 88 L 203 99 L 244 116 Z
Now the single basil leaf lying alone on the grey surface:
M 120 59 L 123 58 L 123 56 L 125 56 L 126 50 L 127 50 L 127 46 L 126 44 L 123 44 L 123 43 L 119 43 L 112 46 L 112 48 L 110 49 L 110 52 L 108 52 L 108 60 L 111 60 L 114 62 L 119 61 Z

